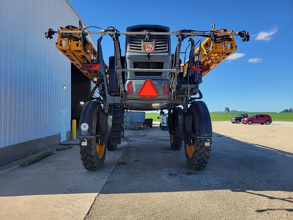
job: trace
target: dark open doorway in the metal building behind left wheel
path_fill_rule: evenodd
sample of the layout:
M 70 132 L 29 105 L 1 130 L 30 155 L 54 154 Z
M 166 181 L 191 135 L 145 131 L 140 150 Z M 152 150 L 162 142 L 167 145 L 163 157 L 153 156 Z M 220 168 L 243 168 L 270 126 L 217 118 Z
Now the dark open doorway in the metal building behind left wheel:
M 82 107 L 89 99 L 90 92 L 91 80 L 71 64 L 71 121 L 75 119 L 77 127 Z

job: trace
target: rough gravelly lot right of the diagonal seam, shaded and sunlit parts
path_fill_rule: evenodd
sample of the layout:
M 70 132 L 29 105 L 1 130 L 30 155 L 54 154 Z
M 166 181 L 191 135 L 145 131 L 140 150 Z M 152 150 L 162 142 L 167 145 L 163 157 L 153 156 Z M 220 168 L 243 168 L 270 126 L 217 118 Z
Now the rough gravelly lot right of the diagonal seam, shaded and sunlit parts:
M 128 145 L 86 219 L 293 219 L 293 126 L 213 122 L 204 171 L 158 127 Z

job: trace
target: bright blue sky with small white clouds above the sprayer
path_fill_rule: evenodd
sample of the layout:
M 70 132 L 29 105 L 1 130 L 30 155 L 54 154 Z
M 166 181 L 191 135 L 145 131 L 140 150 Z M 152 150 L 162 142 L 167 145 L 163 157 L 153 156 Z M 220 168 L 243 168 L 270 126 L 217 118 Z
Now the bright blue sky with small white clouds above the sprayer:
M 213 22 L 216 29 L 247 30 L 250 41 L 237 38 L 237 54 L 203 78 L 202 100 L 210 111 L 224 111 L 226 106 L 250 112 L 293 107 L 293 1 L 69 2 L 87 25 L 111 25 L 120 31 L 135 24 L 160 24 L 171 31 L 210 30 Z M 112 40 L 105 37 L 102 47 L 107 60 L 113 54 Z

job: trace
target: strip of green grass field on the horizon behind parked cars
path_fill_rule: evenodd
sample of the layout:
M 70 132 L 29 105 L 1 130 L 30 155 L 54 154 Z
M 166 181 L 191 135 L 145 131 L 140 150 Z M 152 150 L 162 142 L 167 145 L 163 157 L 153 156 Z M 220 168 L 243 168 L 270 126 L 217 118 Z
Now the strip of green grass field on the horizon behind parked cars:
M 212 121 L 229 121 L 230 117 L 237 116 L 239 113 L 223 113 L 223 112 L 212 112 L 210 113 Z M 270 115 L 273 121 L 293 121 L 293 113 L 271 113 L 271 112 L 262 112 L 262 113 L 247 113 L 249 116 L 256 114 L 267 114 Z M 154 122 L 160 121 L 157 119 L 159 113 L 146 113 L 145 118 L 152 118 Z

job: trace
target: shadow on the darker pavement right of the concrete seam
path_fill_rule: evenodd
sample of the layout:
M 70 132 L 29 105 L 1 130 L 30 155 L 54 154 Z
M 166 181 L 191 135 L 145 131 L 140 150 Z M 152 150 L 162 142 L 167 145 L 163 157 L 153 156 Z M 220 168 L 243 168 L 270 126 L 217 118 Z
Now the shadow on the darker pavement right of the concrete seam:
M 103 194 L 293 190 L 293 154 L 290 152 L 214 133 L 208 167 L 191 171 L 186 168 L 184 149 L 170 149 L 167 131 L 145 130 L 144 135 L 128 131 L 128 135 L 133 137 L 120 158 L 123 165 L 115 167 Z

